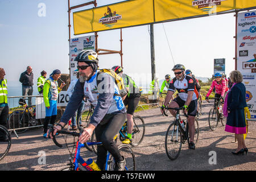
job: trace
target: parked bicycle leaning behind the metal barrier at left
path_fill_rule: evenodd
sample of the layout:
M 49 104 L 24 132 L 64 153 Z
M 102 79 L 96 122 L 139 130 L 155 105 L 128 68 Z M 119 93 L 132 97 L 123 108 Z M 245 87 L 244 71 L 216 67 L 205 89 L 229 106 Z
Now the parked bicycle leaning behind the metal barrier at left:
M 28 106 L 23 99 L 19 101 L 19 105 L 23 105 L 24 110 L 16 110 L 10 114 L 7 129 L 19 129 L 15 130 L 16 133 L 24 133 L 27 131 L 27 127 L 38 125 L 38 120 L 35 119 L 35 105 Z M 30 110 L 32 110 L 32 114 Z

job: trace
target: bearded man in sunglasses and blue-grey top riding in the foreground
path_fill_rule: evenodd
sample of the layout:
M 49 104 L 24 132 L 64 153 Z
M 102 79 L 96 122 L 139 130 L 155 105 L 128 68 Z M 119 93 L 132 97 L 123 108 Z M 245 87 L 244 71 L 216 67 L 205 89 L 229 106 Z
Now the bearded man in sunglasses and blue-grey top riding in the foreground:
M 104 169 L 107 151 L 115 159 L 115 170 L 123 171 L 126 161 L 121 156 L 117 144 L 113 138 L 123 126 L 126 120 L 126 109 L 119 93 L 118 86 L 113 77 L 108 73 L 100 72 L 98 68 L 97 53 L 92 50 L 83 50 L 75 58 L 79 69 L 79 81 L 77 81 L 67 108 L 57 123 L 53 135 L 69 121 L 85 97 L 94 106 L 94 112 L 89 125 L 79 137 L 79 142 L 85 143 L 95 130 L 96 139 L 102 142 L 97 147 L 97 165 Z M 52 134 L 50 134 L 52 138 Z

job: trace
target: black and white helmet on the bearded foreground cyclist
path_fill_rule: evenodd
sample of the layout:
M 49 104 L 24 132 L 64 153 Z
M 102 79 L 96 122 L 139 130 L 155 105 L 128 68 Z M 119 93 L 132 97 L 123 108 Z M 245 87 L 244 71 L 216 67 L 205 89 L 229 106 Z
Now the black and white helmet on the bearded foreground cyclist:
M 74 61 L 98 64 L 98 54 L 93 50 L 82 50 Z

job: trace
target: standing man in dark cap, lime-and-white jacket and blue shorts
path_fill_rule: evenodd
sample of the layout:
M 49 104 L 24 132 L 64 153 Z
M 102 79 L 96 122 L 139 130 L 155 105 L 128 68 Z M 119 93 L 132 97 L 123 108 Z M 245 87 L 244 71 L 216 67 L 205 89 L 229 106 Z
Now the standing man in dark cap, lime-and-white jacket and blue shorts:
M 44 104 L 46 104 L 46 118 L 44 119 L 44 135 L 47 136 L 47 126 L 48 123 L 52 125 L 55 123 L 57 116 L 57 98 L 58 93 L 61 91 L 65 84 L 61 83 L 58 86 L 57 80 L 60 78 L 61 72 L 59 69 L 55 69 L 50 77 L 46 80 L 43 87 Z

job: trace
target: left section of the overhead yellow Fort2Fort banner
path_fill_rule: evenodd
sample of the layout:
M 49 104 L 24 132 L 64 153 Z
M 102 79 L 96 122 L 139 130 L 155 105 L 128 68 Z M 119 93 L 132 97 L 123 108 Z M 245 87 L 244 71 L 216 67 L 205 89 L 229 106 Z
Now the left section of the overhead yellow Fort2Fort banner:
M 153 1 L 130 0 L 73 13 L 75 35 L 154 22 Z

